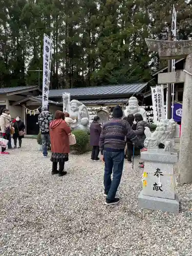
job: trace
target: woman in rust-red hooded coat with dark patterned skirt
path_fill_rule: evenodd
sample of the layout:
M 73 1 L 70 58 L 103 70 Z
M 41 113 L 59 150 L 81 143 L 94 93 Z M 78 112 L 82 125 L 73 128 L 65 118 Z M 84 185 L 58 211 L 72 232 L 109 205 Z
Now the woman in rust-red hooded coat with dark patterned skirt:
M 52 175 L 59 176 L 66 175 L 64 172 L 65 162 L 69 160 L 69 136 L 71 133 L 70 127 L 64 121 L 65 115 L 62 111 L 55 112 L 55 119 L 50 123 L 50 139 L 51 139 L 51 161 Z M 57 170 L 57 163 L 59 163 L 59 170 Z

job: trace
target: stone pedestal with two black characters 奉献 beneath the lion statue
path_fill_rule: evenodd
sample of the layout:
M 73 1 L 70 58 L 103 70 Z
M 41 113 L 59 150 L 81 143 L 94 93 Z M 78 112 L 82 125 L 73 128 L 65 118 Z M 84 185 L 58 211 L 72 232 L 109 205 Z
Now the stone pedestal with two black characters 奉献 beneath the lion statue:
M 178 161 L 177 153 L 160 149 L 149 149 L 141 153 L 144 161 L 143 190 L 138 198 L 142 208 L 179 212 L 179 199 L 175 194 L 173 165 Z

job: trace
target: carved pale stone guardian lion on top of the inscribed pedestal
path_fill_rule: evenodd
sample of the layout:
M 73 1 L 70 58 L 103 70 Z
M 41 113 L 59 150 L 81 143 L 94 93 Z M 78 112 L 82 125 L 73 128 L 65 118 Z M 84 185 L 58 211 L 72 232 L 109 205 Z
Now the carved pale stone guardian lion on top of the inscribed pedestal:
M 174 146 L 174 134 L 176 132 L 176 122 L 173 119 L 164 119 L 157 124 L 157 128 L 154 133 L 150 131 L 150 128 L 145 127 L 144 147 L 146 148 L 158 148 L 159 144 L 164 144 L 165 151 L 171 151 Z

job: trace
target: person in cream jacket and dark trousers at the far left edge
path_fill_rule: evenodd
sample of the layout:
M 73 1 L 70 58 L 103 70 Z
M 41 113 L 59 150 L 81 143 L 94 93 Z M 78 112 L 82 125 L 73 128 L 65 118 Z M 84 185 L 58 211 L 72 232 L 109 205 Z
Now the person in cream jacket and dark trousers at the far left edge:
M 10 111 L 8 109 L 3 109 L 2 114 L 0 116 L 0 127 L 2 137 L 8 140 L 8 148 L 12 148 L 11 146 L 11 116 Z M 1 154 L 9 154 L 6 152 L 6 147 L 2 147 Z

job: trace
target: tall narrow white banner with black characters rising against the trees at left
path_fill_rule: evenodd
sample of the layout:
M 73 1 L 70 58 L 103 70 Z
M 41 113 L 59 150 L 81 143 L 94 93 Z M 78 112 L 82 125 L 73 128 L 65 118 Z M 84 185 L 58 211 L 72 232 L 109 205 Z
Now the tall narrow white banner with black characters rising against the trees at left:
M 51 56 L 52 56 L 53 40 L 44 34 L 44 62 L 42 75 L 42 105 L 48 106 L 49 103 L 49 83 L 51 73 Z

